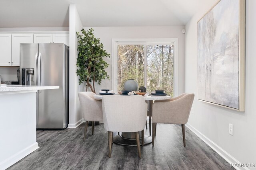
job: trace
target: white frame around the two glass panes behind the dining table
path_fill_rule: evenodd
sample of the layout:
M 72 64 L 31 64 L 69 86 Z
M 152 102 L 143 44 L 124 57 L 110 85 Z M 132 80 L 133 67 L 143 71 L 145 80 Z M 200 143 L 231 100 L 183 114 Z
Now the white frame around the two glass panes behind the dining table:
M 144 45 L 144 57 L 147 56 L 147 45 L 174 45 L 173 60 L 174 60 L 174 97 L 178 96 L 178 38 L 150 38 L 150 39 L 112 39 L 112 76 L 111 89 L 117 93 L 117 59 L 118 45 Z M 147 60 L 144 60 L 144 84 L 147 84 Z M 147 87 L 146 87 L 147 88 Z

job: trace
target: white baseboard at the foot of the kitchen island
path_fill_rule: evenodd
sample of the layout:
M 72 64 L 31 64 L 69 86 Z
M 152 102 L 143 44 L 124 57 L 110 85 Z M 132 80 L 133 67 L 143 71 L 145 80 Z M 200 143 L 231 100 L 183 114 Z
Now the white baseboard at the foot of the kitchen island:
M 29 155 L 30 153 L 34 152 L 38 148 L 38 143 L 36 142 L 30 145 L 29 147 L 26 147 L 25 149 L 21 150 L 20 152 L 10 156 L 6 160 L 3 160 L 2 162 L 0 162 L 0 170 L 7 169 L 8 167 L 12 166 L 13 164 L 18 162 L 25 156 Z

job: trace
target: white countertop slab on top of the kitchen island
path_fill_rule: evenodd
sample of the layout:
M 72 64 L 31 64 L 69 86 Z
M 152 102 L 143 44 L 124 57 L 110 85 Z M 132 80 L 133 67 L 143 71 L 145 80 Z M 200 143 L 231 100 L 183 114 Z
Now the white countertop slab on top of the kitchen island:
M 28 91 L 28 90 L 48 90 L 57 89 L 60 86 L 21 86 L 21 85 L 7 85 L 0 86 L 0 92 L 14 92 L 14 91 Z

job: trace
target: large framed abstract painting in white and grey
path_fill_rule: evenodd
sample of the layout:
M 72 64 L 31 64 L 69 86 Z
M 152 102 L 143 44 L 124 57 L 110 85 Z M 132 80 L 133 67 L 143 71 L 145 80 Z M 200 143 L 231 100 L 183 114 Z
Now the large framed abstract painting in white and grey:
M 198 21 L 198 100 L 244 111 L 244 0 L 220 0 Z

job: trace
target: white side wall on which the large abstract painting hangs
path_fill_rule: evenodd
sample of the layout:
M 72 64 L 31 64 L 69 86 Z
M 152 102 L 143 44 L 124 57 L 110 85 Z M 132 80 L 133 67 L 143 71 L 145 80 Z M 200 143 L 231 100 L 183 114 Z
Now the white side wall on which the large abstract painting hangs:
M 217 1 L 217 0 L 216 0 Z M 197 21 L 215 4 L 198 9 L 186 24 L 185 92 L 195 94 L 194 114 L 188 124 L 226 151 L 231 162 L 256 163 L 256 1 L 246 0 L 246 108 L 233 111 L 197 100 Z M 228 134 L 229 123 L 234 125 L 234 135 Z

